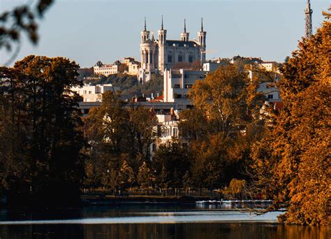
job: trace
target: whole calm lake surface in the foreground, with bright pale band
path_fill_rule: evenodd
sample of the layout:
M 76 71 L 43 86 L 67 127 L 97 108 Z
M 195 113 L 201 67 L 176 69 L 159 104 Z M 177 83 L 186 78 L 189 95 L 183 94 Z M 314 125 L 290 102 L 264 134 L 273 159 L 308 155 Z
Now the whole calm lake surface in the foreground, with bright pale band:
M 0 238 L 330 238 L 325 227 L 277 224 L 279 213 L 141 203 L 0 210 Z

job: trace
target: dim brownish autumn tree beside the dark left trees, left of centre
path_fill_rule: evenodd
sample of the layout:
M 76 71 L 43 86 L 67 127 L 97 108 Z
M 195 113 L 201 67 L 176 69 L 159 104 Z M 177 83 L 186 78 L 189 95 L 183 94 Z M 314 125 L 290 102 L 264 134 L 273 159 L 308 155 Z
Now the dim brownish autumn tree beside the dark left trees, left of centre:
M 94 145 L 87 169 L 101 175 L 95 185 L 111 186 L 115 191 L 138 182 L 142 162 L 150 160 L 155 115 L 145 108 L 133 108 L 119 94 L 105 92 L 101 108 L 91 109 L 84 122 L 87 140 Z

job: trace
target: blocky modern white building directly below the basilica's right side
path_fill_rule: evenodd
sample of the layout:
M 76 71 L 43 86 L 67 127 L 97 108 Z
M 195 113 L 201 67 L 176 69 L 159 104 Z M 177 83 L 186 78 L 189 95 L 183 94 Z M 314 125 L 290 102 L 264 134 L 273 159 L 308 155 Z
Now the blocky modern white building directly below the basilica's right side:
M 204 80 L 205 71 L 165 70 L 163 74 L 163 101 L 174 102 L 177 110 L 191 107 L 187 99 L 189 89 L 196 80 Z

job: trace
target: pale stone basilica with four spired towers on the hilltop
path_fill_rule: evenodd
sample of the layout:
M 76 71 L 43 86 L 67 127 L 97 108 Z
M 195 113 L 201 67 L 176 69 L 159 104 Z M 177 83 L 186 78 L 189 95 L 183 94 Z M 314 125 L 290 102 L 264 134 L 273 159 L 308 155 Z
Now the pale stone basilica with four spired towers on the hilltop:
M 203 31 L 203 19 L 201 19 L 201 29 L 198 31 L 198 40 L 189 40 L 189 32 L 186 31 L 186 21 L 184 20 L 184 31 L 180 34 L 180 40 L 168 40 L 167 30 L 163 27 L 158 31 L 158 39 L 149 35 L 145 27 L 141 32 L 140 54 L 141 66 L 138 73 L 140 83 L 150 80 L 152 73 L 163 74 L 165 69 L 172 68 L 178 62 L 192 64 L 199 61 L 200 64 L 206 60 L 206 31 Z

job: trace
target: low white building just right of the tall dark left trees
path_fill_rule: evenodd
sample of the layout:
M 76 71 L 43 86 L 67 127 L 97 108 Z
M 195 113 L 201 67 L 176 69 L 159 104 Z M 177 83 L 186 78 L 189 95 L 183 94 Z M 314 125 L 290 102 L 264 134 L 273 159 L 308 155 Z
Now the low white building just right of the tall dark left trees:
M 83 98 L 83 102 L 100 102 L 102 94 L 106 91 L 119 91 L 119 87 L 113 87 L 112 84 L 105 85 L 84 85 L 82 87 L 72 87 L 71 91 L 76 92 Z

